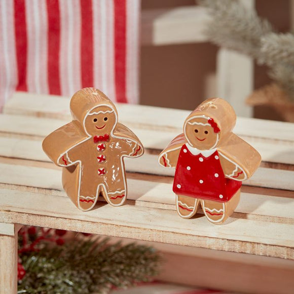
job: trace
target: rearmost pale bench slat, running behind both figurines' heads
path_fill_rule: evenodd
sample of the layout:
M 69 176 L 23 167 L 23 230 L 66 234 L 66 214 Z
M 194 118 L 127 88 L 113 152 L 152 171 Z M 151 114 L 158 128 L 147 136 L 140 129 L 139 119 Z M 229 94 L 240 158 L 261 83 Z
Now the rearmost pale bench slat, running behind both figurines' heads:
M 157 130 L 170 133 L 171 137 L 169 137 L 169 141 L 173 136 L 178 135 L 182 131 L 182 124 L 190 114 L 190 111 L 164 107 L 124 103 L 116 103 L 116 106 L 119 112 L 119 119 L 122 123 L 131 128 L 135 127 L 136 129 Z M 25 92 L 15 92 L 13 97 L 7 101 L 4 107 L 4 113 L 55 118 L 62 121 L 59 126 L 71 120 L 69 98 L 28 94 Z M 12 124 L 18 123 L 15 117 L 7 119 Z M 50 124 L 54 124 L 54 122 L 50 121 Z M 293 123 L 238 117 L 234 132 L 246 138 L 259 138 L 266 141 L 274 141 L 275 143 L 277 143 L 277 140 L 282 140 L 287 141 L 291 145 L 294 144 Z

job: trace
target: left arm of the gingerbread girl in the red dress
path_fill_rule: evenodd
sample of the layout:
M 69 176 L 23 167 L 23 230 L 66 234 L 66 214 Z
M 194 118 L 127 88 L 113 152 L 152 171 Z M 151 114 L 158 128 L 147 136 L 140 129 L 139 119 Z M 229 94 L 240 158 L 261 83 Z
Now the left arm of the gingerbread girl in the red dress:
M 187 141 L 183 134 L 176 136 L 160 153 L 158 162 L 163 167 L 176 167 L 180 149 Z

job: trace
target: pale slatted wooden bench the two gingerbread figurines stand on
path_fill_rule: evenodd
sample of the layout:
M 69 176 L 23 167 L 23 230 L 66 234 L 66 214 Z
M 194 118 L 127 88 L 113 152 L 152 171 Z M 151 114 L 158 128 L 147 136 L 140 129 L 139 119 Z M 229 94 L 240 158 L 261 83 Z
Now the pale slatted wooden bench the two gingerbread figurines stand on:
M 0 115 L 0 293 L 16 293 L 17 224 L 157 242 L 166 258 L 159 277 L 165 281 L 252 293 L 293 291 L 294 124 L 238 118 L 235 132 L 263 162 L 242 187 L 226 225 L 213 226 L 201 213 L 194 219 L 177 215 L 174 171 L 157 163 L 190 112 L 117 108 L 145 155 L 126 159 L 126 205 L 101 201 L 82 212 L 66 197 L 61 170 L 41 147 L 47 134 L 70 120 L 69 98 L 16 92 L 7 102 Z

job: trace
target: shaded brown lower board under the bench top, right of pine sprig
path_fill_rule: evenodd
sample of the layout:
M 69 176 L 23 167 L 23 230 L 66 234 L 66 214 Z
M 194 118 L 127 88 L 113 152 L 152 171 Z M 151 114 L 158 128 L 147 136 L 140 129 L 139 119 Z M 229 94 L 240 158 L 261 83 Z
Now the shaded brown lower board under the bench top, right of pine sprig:
M 132 242 L 111 238 L 113 243 L 118 241 Z M 290 260 L 148 241 L 137 243 L 160 250 L 164 263 L 158 279 L 166 282 L 254 294 L 288 294 L 294 286 L 294 263 Z

